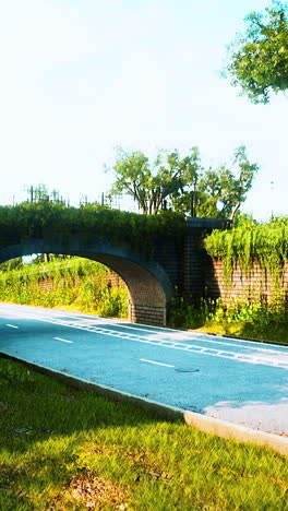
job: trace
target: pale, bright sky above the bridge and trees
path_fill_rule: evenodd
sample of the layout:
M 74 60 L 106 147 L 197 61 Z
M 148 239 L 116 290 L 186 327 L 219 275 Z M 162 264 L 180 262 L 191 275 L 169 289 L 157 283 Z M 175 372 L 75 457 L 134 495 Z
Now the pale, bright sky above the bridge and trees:
M 244 16 L 268 0 L 0 0 L 0 204 L 39 183 L 73 205 L 112 183 L 115 147 L 260 170 L 242 211 L 287 215 L 284 94 L 253 105 L 220 76 Z

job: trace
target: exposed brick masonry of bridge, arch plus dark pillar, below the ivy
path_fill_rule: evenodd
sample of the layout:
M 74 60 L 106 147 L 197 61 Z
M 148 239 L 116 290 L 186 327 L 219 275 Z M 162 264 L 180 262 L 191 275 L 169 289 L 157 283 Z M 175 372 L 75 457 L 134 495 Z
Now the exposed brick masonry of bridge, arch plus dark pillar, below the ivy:
M 17 245 L 0 246 L 0 263 L 32 253 L 61 253 L 98 261 L 118 273 L 129 290 L 129 319 L 132 322 L 166 325 L 166 311 L 176 288 L 180 296 L 201 296 L 204 287 L 205 253 L 199 249 L 203 229 L 227 228 L 225 221 L 188 218 L 183 241 L 160 239 L 153 258 L 129 247 L 100 242 L 83 243 L 74 236 L 61 243 L 50 239 L 23 239 Z M 0 296 L 1 301 L 1 296 Z

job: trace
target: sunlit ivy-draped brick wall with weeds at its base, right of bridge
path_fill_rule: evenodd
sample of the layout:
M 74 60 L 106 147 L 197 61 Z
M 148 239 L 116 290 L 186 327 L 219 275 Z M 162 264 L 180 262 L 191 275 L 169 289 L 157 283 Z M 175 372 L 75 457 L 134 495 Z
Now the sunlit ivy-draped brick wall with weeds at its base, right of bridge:
M 241 221 L 232 229 L 215 229 L 204 246 L 214 259 L 207 272 L 208 292 L 215 285 L 221 297 L 202 298 L 199 304 L 178 299 L 170 325 L 287 344 L 288 217 L 267 224 Z M 238 293 L 237 280 L 242 293 Z M 268 299 L 259 295 L 266 286 Z

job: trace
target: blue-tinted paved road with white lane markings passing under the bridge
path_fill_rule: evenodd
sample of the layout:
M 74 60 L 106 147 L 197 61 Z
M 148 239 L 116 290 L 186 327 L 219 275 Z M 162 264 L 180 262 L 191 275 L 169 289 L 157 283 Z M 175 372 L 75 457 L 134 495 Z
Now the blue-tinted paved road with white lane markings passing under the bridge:
M 0 352 L 88 382 L 288 435 L 288 347 L 0 304 Z

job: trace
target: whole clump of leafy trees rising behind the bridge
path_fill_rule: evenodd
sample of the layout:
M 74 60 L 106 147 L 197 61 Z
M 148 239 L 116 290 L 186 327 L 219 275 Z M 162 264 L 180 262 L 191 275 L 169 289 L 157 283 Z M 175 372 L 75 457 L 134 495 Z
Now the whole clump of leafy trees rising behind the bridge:
M 217 169 L 202 167 L 197 147 L 183 158 L 177 150 L 161 151 L 153 164 L 141 152 L 118 150 L 111 193 L 128 193 L 144 214 L 171 206 L 192 216 L 233 218 L 256 171 L 244 146 L 236 150 L 231 168 L 223 165 Z

